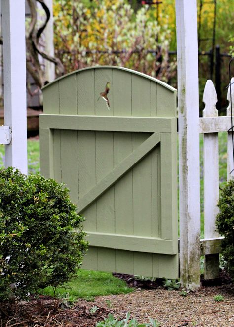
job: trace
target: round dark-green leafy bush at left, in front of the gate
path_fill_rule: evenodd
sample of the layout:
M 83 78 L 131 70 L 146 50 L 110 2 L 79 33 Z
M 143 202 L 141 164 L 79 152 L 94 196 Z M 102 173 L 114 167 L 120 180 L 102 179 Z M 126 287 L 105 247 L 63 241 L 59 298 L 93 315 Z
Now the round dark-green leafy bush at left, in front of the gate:
M 81 265 L 83 218 L 68 192 L 53 179 L 0 170 L 1 301 L 62 286 Z

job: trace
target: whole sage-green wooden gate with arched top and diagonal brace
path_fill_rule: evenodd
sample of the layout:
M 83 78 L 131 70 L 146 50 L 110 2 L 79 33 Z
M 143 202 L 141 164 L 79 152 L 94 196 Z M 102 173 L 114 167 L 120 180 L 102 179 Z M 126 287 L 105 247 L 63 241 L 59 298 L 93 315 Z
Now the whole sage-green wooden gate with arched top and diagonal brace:
M 110 109 L 100 93 L 110 82 Z M 83 268 L 178 277 L 176 90 L 119 67 L 43 88 L 41 173 L 86 217 Z

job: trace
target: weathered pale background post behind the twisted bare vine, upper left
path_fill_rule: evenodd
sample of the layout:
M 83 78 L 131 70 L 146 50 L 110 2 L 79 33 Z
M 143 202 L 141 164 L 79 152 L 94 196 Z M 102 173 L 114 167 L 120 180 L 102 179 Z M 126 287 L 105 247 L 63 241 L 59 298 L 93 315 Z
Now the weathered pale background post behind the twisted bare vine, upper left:
M 44 30 L 45 35 L 45 52 L 51 57 L 54 57 L 54 20 L 53 20 L 53 0 L 44 1 L 50 11 L 50 19 Z M 45 60 L 45 79 L 52 82 L 55 79 L 55 65 L 54 63 Z

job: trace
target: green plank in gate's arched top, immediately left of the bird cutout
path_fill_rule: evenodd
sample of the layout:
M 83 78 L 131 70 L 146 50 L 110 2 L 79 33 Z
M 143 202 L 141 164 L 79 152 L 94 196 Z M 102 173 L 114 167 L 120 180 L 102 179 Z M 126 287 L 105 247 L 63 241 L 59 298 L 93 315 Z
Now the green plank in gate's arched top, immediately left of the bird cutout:
M 94 70 L 77 73 L 77 112 L 78 115 L 95 114 Z

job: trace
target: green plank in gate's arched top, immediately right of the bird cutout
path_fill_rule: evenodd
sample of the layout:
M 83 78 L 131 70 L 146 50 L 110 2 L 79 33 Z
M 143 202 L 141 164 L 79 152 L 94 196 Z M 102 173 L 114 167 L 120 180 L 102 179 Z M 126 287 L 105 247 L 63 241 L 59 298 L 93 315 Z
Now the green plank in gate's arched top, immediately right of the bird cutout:
M 113 114 L 115 116 L 131 116 L 131 74 L 113 70 Z

